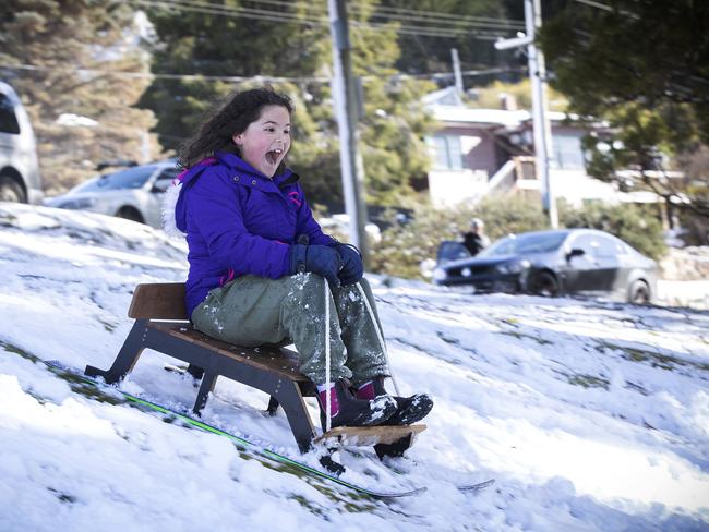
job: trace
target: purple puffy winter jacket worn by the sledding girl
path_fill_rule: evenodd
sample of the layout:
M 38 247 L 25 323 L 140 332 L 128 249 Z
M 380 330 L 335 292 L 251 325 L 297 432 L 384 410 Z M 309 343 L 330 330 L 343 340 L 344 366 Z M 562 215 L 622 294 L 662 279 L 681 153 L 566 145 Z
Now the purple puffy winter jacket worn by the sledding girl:
M 298 174 L 288 169 L 271 180 L 237 155 L 219 152 L 180 180 L 175 221 L 189 246 L 189 316 L 209 290 L 236 277 L 290 275 L 290 244 L 301 234 L 310 244 L 336 243 L 323 233 Z

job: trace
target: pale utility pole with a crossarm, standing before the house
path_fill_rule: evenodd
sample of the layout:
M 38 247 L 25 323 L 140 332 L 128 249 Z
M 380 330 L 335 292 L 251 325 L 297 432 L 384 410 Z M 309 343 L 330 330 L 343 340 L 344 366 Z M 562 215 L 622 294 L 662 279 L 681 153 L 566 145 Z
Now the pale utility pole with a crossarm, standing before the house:
M 546 66 L 544 55 L 534 45 L 536 31 L 542 25 L 540 0 L 525 0 L 525 25 L 527 35 L 517 38 L 501 39 L 495 43 L 497 50 L 527 47 L 527 61 L 532 88 L 532 124 L 534 131 L 534 159 L 537 179 L 542 183 L 542 207 L 552 229 L 558 228 L 558 213 L 553 194 L 549 160 L 552 154 L 552 133 L 546 106 Z

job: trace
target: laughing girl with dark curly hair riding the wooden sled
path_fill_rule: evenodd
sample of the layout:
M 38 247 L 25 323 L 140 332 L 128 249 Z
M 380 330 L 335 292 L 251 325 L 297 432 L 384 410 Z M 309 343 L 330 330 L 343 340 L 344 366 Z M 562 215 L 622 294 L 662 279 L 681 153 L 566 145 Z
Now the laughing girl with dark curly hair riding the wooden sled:
M 323 233 L 285 167 L 292 112 L 271 87 L 237 93 L 182 146 L 175 221 L 189 245 L 188 313 L 230 343 L 292 341 L 326 431 L 413 423 L 433 402 L 384 389 L 381 324 L 358 250 Z

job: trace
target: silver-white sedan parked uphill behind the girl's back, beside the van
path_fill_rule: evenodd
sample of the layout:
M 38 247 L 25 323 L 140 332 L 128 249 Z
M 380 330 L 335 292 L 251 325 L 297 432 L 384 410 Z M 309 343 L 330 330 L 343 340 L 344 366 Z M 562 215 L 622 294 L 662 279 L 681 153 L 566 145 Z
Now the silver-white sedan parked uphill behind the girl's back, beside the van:
M 45 201 L 48 207 L 91 210 L 151 227 L 163 226 L 163 192 L 180 172 L 173 159 L 98 176 L 67 194 Z

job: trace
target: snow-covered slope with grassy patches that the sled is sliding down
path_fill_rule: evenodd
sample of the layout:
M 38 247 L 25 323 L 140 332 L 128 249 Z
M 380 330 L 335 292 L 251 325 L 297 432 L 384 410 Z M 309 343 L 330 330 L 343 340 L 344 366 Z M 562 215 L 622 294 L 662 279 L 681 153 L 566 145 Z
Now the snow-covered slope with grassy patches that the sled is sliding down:
M 183 280 L 183 257 L 144 226 L 0 204 L 0 530 L 709 530 L 708 312 L 374 278 L 399 387 L 436 403 L 407 458 L 341 452 L 349 481 L 429 486 L 376 501 L 33 362 L 107 367 L 133 287 Z M 189 407 L 169 363 L 144 353 L 122 387 Z M 204 418 L 298 457 L 266 399 L 220 379 Z M 455 487 L 488 477 L 478 495 Z

